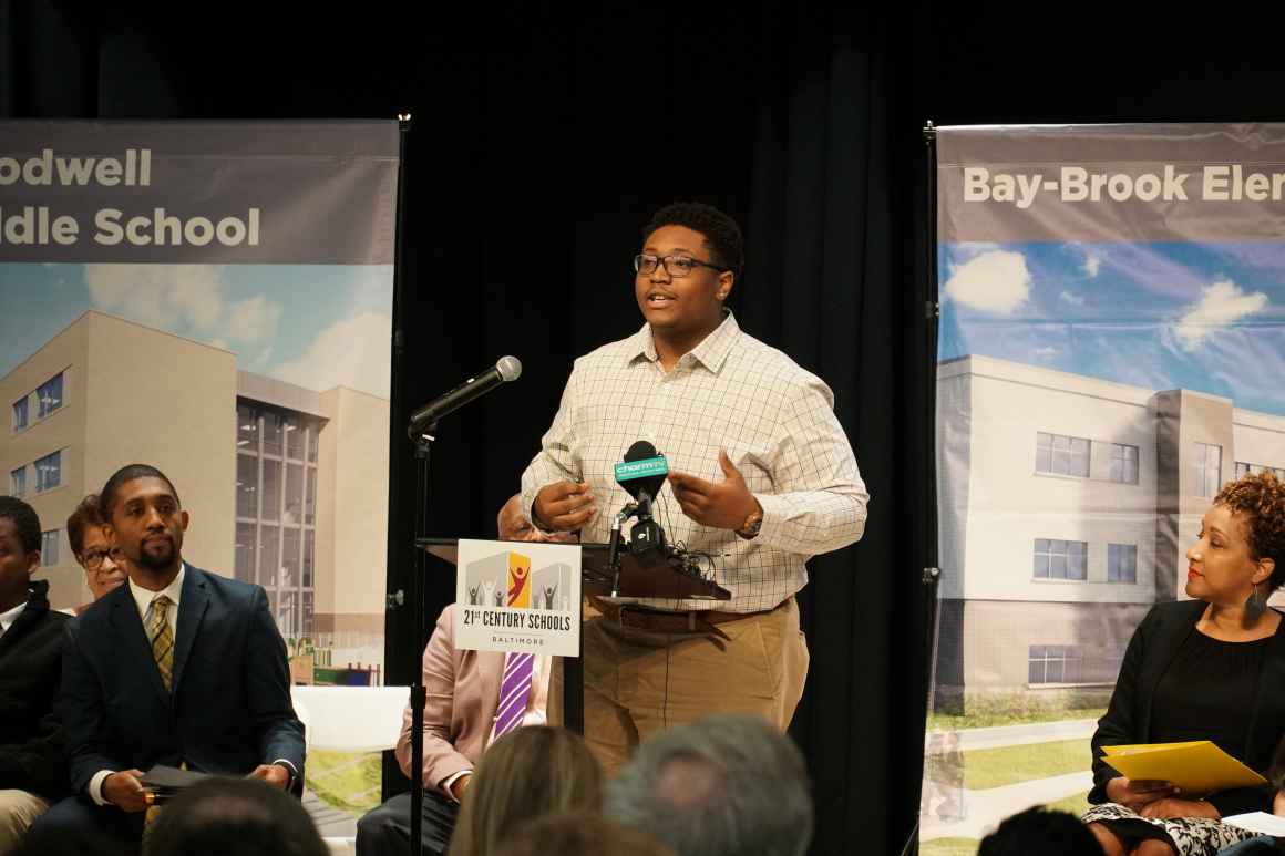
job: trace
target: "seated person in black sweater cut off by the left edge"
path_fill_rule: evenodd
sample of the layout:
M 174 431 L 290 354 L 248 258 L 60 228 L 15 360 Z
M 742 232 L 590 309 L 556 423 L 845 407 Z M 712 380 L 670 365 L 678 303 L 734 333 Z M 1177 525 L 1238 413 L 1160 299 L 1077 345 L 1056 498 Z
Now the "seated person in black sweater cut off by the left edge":
M 0 855 L 49 802 L 67 793 L 63 729 L 54 712 L 63 625 L 40 568 L 40 518 L 0 496 Z

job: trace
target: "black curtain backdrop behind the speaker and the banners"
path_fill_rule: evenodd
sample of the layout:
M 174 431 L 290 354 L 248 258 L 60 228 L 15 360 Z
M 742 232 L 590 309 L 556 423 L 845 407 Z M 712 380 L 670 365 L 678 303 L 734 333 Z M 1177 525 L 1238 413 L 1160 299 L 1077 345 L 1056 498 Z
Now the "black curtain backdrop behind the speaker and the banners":
M 920 129 L 1280 120 L 1280 14 L 1227 8 L 1219 28 L 1103 3 L 421 9 L 0 0 L 0 117 L 414 114 L 392 589 L 410 568 L 409 410 L 522 359 L 522 380 L 443 423 L 434 449 L 432 532 L 492 535 L 572 360 L 640 324 L 630 257 L 650 212 L 734 215 L 749 263 L 732 307 L 834 388 L 874 496 L 865 539 L 816 559 L 802 598 L 812 671 L 793 733 L 816 785 L 812 852 L 900 852 L 935 528 Z M 433 614 L 451 584 L 430 577 Z M 388 682 L 418 664 L 409 629 L 389 613 Z

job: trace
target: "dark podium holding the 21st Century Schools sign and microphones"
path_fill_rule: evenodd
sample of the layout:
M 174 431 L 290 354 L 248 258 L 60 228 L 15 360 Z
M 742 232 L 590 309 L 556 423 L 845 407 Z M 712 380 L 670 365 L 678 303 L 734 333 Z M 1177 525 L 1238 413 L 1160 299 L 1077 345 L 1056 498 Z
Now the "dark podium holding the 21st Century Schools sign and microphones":
M 528 544 L 510 541 L 509 544 Z M 455 564 L 459 559 L 457 539 L 416 539 L 415 545 L 428 554 Z M 663 598 L 669 600 L 730 600 L 731 593 L 712 580 L 705 580 L 684 567 L 681 559 L 669 557 L 663 563 L 644 564 L 622 549 L 617 554 L 619 580 L 608 567 L 610 548 L 607 544 L 581 544 L 582 595 L 608 596 L 613 585 L 621 598 Z M 581 604 L 583 608 L 583 604 Z M 585 653 L 581 636 L 581 657 Z M 585 666 L 581 658 L 563 658 L 563 725 L 577 734 L 585 733 Z

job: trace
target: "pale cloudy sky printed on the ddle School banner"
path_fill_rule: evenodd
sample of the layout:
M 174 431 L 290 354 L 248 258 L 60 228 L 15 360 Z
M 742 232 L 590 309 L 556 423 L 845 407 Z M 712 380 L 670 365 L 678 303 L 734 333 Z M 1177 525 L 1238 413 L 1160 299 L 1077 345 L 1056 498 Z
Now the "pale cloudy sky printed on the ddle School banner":
M 391 265 L 0 265 L 0 377 L 86 310 L 236 353 L 315 391 L 388 397 Z

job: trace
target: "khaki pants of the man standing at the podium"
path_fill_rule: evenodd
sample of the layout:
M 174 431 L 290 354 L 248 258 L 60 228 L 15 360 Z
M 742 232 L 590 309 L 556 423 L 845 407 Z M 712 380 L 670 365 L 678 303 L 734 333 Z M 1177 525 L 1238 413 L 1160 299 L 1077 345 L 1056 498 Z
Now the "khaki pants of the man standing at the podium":
M 727 639 L 622 627 L 585 603 L 585 740 L 608 774 L 641 740 L 707 713 L 757 713 L 785 731 L 808 666 L 794 598 L 717 629 Z M 549 713 L 562 722 L 562 661 L 555 662 Z

